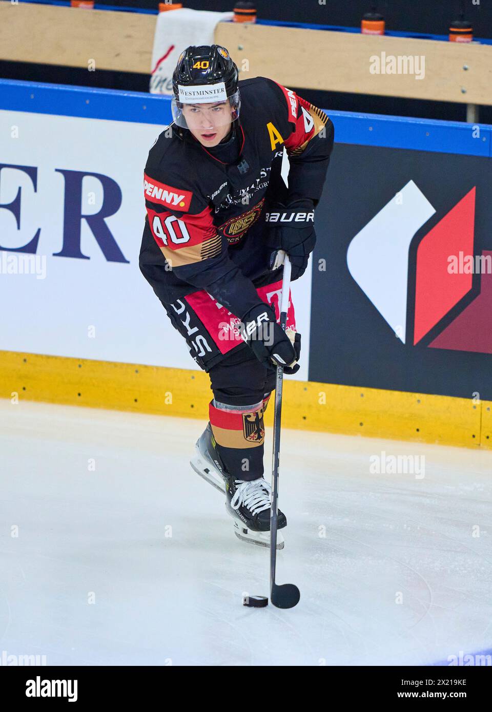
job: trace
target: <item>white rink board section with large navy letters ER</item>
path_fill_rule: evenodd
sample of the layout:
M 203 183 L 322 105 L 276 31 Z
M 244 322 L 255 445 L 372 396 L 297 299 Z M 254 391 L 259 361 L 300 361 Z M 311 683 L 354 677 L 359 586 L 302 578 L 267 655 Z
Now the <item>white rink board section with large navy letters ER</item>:
M 18 127 L 19 137 L 13 135 Z M 145 219 L 142 177 L 147 155 L 164 125 L 0 111 L 1 164 L 31 167 L 36 190 L 21 169 L 0 172 L 0 350 L 198 369 L 138 267 Z M 15 133 L 15 130 L 14 130 Z M 66 181 L 60 171 L 103 174 L 121 190 L 121 206 L 105 218 L 127 263 L 107 261 L 88 222 L 81 252 L 88 259 L 53 256 L 63 246 Z M 58 171 L 58 172 L 57 172 Z M 20 229 L 11 204 L 20 189 Z M 89 204 L 90 193 L 94 194 Z M 83 214 L 103 205 L 99 179 L 82 183 Z M 9 252 L 41 228 L 38 274 L 6 273 Z M 42 261 L 41 261 L 42 258 Z M 4 267 L 2 267 L 4 265 Z M 297 380 L 308 378 L 311 278 L 293 283 L 303 359 Z

